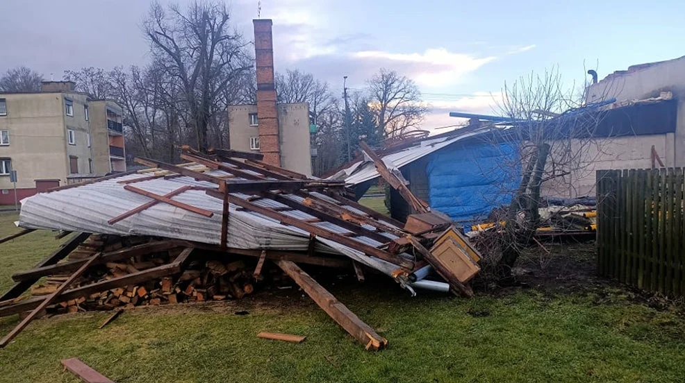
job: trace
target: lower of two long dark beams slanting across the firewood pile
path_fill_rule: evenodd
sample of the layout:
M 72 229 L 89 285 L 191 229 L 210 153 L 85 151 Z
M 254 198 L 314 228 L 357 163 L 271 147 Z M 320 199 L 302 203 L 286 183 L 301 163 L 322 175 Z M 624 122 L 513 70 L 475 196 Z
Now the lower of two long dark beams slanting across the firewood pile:
M 57 297 L 56 303 L 64 302 L 66 300 L 72 300 L 81 297 L 90 296 L 92 293 L 99 293 L 109 289 L 116 289 L 117 287 L 126 286 L 127 284 L 138 284 L 141 282 L 147 282 L 148 280 L 154 280 L 169 275 L 179 273 L 181 271 L 181 266 L 177 262 L 172 264 L 165 264 L 162 266 L 154 267 L 152 269 L 147 269 L 144 271 L 139 271 L 138 273 L 131 273 L 123 275 L 119 278 L 113 278 L 110 280 L 104 280 L 101 282 L 88 284 L 81 287 L 75 287 L 64 291 Z M 0 316 L 8 316 L 13 314 L 19 314 L 27 310 L 35 309 L 40 303 L 45 299 L 45 297 L 35 297 L 27 300 L 22 300 L 19 303 L 14 303 L 13 305 L 4 306 L 0 302 Z

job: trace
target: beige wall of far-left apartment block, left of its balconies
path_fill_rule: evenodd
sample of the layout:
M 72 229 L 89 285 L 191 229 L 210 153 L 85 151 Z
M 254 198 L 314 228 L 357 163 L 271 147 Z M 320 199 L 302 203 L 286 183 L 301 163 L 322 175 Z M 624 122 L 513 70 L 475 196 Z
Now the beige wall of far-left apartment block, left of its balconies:
M 9 130 L 10 135 L 10 145 L 0 146 L 0 157 L 11 158 L 17 171 L 17 187 L 33 188 L 34 180 L 49 178 L 58 178 L 64 185 L 69 159 L 65 154 L 63 94 L 0 94 L 0 98 L 7 102 L 7 115 L 0 117 L 0 130 Z M 77 109 L 74 106 L 74 114 Z M 0 189 L 11 188 L 9 176 L 0 176 Z

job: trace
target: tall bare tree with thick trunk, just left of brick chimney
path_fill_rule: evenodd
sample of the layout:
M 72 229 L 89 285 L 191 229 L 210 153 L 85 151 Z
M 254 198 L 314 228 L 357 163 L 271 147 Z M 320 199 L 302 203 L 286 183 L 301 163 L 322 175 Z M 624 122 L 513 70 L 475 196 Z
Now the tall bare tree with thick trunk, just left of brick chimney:
M 213 114 L 225 110 L 222 92 L 252 67 L 248 43 L 229 21 L 224 3 L 192 1 L 185 11 L 172 5 L 168 12 L 153 3 L 144 23 L 155 61 L 165 76 L 179 80 L 201 151 L 208 148 Z

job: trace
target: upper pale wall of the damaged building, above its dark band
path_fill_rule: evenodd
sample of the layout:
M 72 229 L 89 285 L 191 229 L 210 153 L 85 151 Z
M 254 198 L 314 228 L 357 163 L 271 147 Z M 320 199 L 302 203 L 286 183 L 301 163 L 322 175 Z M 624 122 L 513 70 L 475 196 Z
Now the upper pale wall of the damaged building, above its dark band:
M 685 57 L 646 65 L 634 65 L 627 71 L 606 76 L 588 87 L 588 102 L 616 97 L 618 101 L 647 99 L 660 92 L 672 92 L 677 99 L 677 127 L 675 136 L 662 148 L 662 153 L 673 153 L 675 161 L 668 166 L 685 166 Z

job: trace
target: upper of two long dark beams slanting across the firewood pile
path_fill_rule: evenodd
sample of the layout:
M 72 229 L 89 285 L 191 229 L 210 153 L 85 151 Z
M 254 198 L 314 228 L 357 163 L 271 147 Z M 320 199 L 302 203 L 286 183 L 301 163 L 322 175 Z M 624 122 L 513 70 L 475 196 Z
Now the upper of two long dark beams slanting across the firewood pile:
M 157 253 L 161 251 L 167 251 L 172 248 L 178 248 L 184 246 L 184 241 L 152 241 L 147 244 L 140 244 L 136 246 L 131 246 L 129 248 L 122 248 L 119 250 L 108 251 L 102 253 L 102 255 L 97 259 L 96 264 L 105 264 L 107 262 L 117 262 L 122 259 L 127 259 L 130 257 L 138 257 L 139 255 L 147 255 L 149 253 Z M 81 265 L 88 262 L 88 259 L 74 259 L 73 261 L 63 262 L 59 264 L 53 264 L 50 266 L 37 267 L 28 271 L 22 271 L 20 273 L 15 273 L 12 275 L 12 279 L 20 282 L 25 280 L 38 280 L 42 277 L 47 277 L 48 275 L 55 275 L 66 273 L 69 271 L 74 271 L 79 269 Z

